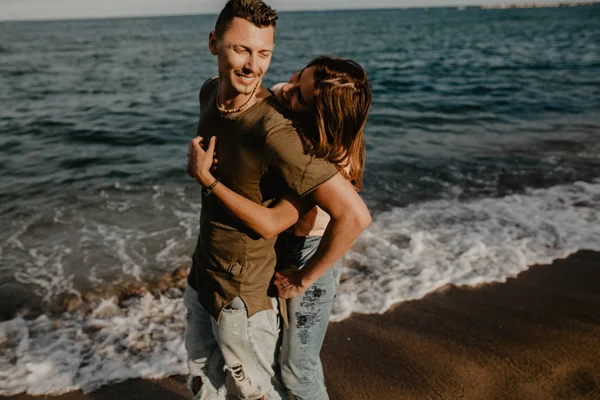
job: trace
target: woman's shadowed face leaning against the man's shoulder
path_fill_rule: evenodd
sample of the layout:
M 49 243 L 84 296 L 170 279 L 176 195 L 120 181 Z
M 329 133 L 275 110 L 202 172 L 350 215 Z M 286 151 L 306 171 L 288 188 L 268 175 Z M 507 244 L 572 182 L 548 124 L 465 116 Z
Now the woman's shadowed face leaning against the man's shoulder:
M 312 115 L 314 110 L 313 92 L 315 70 L 317 67 L 304 68 L 296 72 L 290 81 L 283 85 L 277 99 L 294 115 Z

